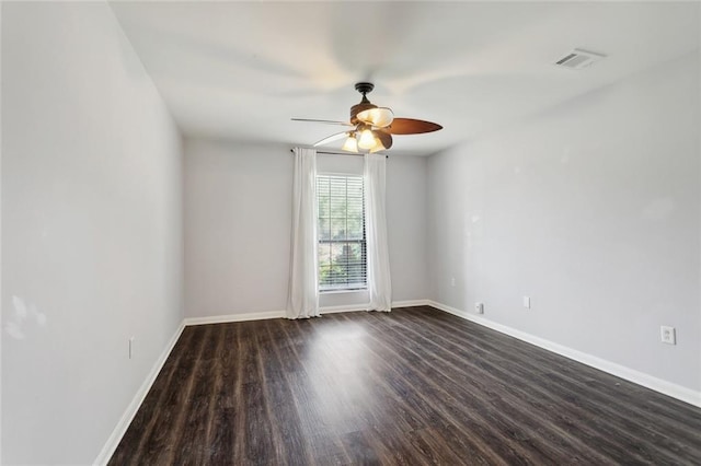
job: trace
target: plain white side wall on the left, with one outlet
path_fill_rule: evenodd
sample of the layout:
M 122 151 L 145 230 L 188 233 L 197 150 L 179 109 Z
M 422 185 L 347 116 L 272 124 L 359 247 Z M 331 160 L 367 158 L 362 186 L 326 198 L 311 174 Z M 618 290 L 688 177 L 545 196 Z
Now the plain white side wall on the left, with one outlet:
M 182 321 L 181 212 L 179 132 L 110 7 L 3 2 L 3 464 L 101 452 Z

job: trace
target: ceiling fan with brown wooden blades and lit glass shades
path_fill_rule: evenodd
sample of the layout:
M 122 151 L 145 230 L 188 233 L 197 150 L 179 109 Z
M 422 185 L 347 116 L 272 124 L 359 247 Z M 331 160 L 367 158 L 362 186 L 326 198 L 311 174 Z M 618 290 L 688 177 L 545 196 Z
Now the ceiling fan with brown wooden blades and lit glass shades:
M 314 143 L 314 147 L 327 144 L 346 138 L 343 150 L 358 152 L 378 152 L 392 147 L 392 135 L 420 135 L 438 131 L 443 126 L 430 121 L 413 118 L 394 118 L 394 113 L 388 107 L 378 107 L 368 101 L 367 94 L 375 89 L 371 82 L 358 82 L 356 91 L 363 94 L 359 104 L 350 107 L 350 123 L 327 119 L 292 118 L 294 121 L 312 121 L 329 125 L 347 126 L 348 129 Z

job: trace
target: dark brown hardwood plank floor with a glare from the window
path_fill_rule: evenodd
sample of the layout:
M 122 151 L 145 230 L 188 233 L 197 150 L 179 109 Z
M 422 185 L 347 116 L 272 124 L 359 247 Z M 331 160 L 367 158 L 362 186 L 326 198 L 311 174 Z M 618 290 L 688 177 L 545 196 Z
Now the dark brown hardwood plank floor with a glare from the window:
M 111 465 L 701 464 L 701 409 L 432 307 L 187 327 Z

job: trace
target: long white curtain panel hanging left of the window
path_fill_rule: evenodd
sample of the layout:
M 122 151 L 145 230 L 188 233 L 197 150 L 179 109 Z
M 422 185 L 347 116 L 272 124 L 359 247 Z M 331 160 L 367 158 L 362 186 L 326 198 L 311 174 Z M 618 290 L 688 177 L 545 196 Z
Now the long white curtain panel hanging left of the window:
M 319 316 L 317 151 L 295 148 L 292 244 L 287 318 Z

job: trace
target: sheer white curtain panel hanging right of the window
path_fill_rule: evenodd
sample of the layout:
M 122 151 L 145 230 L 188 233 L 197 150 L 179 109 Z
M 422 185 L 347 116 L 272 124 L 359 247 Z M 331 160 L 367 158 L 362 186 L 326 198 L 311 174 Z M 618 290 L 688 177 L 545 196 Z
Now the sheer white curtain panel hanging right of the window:
M 387 158 L 365 155 L 365 229 L 368 260 L 368 311 L 392 310 L 390 254 L 387 243 L 387 209 L 384 205 L 384 172 Z

